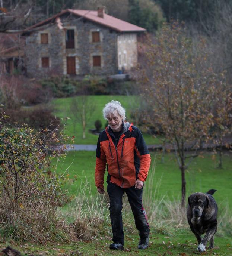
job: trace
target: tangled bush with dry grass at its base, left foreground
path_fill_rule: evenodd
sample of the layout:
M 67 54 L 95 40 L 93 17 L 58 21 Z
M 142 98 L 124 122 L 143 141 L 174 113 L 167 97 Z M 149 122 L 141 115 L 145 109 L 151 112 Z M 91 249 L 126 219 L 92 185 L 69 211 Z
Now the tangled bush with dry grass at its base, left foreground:
M 20 241 L 73 241 L 74 233 L 55 213 L 68 200 L 61 187 L 66 176 L 49 175 L 48 149 L 58 141 L 48 129 L 9 129 L 1 118 L 0 232 Z M 58 157 L 53 152 L 51 157 Z

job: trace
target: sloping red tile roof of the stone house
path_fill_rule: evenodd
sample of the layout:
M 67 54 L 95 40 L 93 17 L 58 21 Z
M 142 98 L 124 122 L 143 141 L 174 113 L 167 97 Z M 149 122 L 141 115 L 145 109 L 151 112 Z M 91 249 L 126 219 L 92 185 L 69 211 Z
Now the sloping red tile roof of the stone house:
M 113 16 L 110 16 L 106 13 L 104 13 L 104 18 L 98 17 L 98 12 L 97 11 L 91 11 L 91 10 L 74 10 L 74 9 L 66 9 L 63 10 L 60 13 L 57 13 L 56 15 L 45 19 L 44 21 L 41 21 L 30 28 L 35 28 L 42 26 L 44 24 L 47 24 L 48 22 L 52 21 L 54 18 L 61 16 L 65 13 L 72 13 L 77 16 L 85 17 L 86 19 L 96 22 L 98 24 L 101 24 L 103 26 L 112 28 L 113 30 L 116 30 L 118 32 L 144 32 L 146 31 L 145 28 L 138 27 L 136 25 L 133 25 L 129 22 L 123 21 L 121 19 L 117 19 Z

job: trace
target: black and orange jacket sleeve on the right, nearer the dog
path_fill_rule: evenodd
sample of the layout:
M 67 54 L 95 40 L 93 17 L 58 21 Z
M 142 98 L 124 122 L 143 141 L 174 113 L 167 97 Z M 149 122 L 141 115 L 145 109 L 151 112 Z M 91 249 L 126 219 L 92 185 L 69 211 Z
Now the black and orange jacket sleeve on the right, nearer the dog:
M 135 149 L 136 153 L 140 159 L 138 179 L 144 182 L 147 179 L 147 174 L 148 174 L 150 163 L 151 163 L 151 157 L 147 149 L 146 143 L 143 139 L 143 135 L 139 129 L 136 136 L 135 146 L 136 146 L 136 149 Z

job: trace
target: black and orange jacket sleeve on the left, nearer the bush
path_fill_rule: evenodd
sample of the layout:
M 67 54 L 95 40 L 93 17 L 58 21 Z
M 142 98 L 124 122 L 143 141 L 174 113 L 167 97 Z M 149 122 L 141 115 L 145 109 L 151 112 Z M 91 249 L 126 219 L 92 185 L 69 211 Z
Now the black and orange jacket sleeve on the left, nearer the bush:
M 104 188 L 104 174 L 106 162 L 106 156 L 103 149 L 101 148 L 100 139 L 98 137 L 95 167 L 95 185 L 97 188 Z

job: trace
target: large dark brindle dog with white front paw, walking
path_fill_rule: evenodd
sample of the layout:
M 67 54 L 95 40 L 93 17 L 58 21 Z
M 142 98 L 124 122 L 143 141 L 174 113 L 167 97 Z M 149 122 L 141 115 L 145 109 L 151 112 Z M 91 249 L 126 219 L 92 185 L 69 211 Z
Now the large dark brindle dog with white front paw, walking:
M 214 248 L 214 235 L 217 232 L 217 204 L 212 195 L 217 190 L 210 189 L 206 193 L 194 193 L 188 197 L 187 219 L 191 231 L 197 238 L 199 252 Z M 201 238 L 202 234 L 204 238 Z

